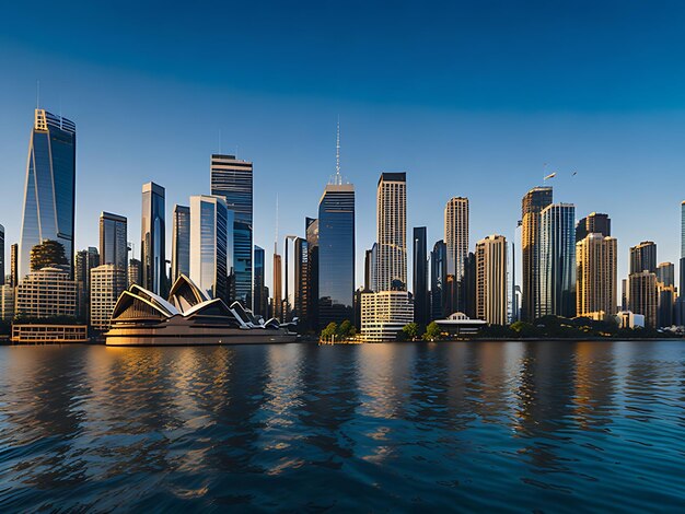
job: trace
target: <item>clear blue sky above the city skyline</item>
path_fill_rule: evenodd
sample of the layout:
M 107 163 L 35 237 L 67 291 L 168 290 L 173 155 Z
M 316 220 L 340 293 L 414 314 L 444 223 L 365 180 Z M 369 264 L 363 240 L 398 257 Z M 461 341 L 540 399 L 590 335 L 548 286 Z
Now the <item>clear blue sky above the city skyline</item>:
M 270 250 L 341 166 L 357 188 L 357 278 L 382 171 L 406 171 L 408 227 L 442 237 L 452 196 L 471 241 L 513 237 L 546 173 L 577 218 L 619 244 L 680 255 L 685 199 L 685 2 L 5 2 L 0 9 L 0 223 L 19 241 L 40 106 L 78 129 L 77 247 L 102 210 L 140 246 L 141 185 L 209 192 L 209 155 L 254 162 L 255 243 Z M 220 136 L 221 135 L 221 136 Z M 547 166 L 545 168 L 545 163 Z M 571 177 L 571 172 L 578 175 Z M 281 243 L 279 243 L 281 244 Z M 270 285 L 270 270 L 267 273 Z

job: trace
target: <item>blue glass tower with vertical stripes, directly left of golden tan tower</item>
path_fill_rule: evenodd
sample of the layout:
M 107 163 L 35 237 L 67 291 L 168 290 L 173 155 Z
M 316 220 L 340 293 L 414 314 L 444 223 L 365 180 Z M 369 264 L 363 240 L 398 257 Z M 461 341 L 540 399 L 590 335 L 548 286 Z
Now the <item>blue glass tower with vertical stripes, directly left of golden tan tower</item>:
M 554 203 L 541 212 L 541 315 L 576 316 L 576 207 Z

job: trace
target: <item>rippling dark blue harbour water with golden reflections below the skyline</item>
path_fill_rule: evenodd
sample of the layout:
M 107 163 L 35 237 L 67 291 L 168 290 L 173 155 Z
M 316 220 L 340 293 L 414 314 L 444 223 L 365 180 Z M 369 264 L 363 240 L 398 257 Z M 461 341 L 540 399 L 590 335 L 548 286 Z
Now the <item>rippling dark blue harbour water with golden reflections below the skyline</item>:
M 0 348 L 0 511 L 676 511 L 685 342 Z

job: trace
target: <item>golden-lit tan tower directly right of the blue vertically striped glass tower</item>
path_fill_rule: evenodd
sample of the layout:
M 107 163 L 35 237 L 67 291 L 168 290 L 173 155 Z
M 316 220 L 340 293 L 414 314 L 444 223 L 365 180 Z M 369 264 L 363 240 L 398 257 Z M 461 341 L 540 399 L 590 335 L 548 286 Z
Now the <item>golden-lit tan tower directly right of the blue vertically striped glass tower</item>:
M 576 243 L 576 269 L 577 315 L 616 314 L 616 238 L 590 233 Z

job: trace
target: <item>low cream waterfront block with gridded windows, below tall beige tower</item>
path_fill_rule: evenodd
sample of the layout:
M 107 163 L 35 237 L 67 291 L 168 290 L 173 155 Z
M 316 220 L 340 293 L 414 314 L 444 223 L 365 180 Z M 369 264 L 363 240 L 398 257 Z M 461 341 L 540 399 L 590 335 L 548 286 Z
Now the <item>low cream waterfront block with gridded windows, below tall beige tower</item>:
M 414 304 L 406 291 L 361 295 L 361 337 L 367 342 L 394 341 L 414 322 Z

